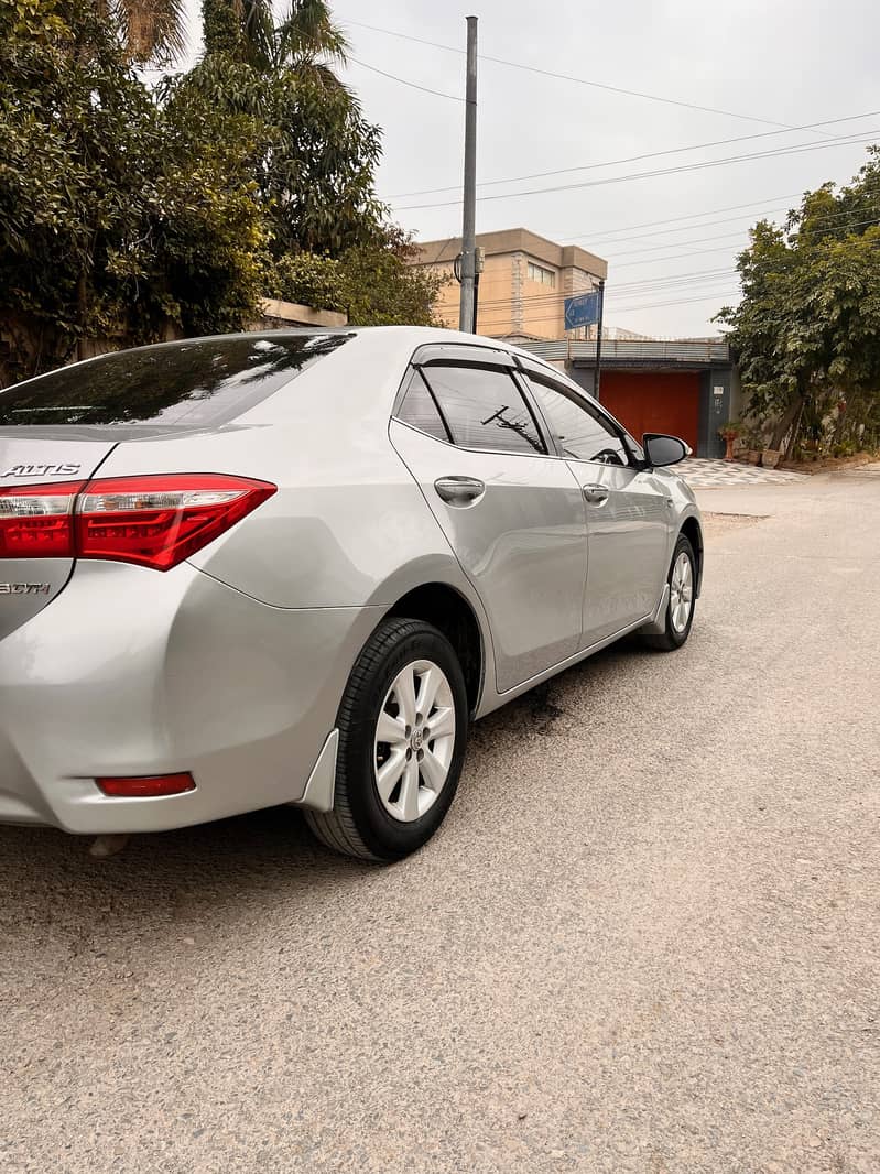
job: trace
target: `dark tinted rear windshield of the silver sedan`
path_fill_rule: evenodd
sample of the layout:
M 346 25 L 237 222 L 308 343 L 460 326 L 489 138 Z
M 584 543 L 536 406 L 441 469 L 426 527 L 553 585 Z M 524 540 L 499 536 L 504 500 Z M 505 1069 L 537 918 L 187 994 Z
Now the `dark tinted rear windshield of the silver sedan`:
M 351 335 L 230 335 L 103 355 L 0 391 L 0 426 L 225 424 Z

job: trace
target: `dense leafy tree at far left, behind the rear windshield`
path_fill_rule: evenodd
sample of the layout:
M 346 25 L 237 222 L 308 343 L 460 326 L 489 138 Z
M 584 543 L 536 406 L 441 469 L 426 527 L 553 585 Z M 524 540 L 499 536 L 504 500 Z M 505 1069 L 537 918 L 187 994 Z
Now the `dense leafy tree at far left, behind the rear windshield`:
M 205 103 L 157 107 L 97 4 L 26 7 L 0 0 L 5 380 L 89 339 L 248 322 L 265 279 L 262 128 Z

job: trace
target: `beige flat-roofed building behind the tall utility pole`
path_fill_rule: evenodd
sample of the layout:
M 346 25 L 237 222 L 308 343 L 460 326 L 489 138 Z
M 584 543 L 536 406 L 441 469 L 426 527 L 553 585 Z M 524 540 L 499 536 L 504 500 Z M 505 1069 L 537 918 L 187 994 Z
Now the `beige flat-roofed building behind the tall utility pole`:
M 485 266 L 480 275 L 476 331 L 490 338 L 563 338 L 563 299 L 594 289 L 608 276 L 608 262 L 573 244 L 555 244 L 524 228 L 482 232 L 476 237 Z M 419 245 L 412 264 L 448 277 L 438 313 L 447 326 L 459 325 L 459 283 L 453 264 L 461 237 Z M 584 337 L 583 330 L 571 337 Z

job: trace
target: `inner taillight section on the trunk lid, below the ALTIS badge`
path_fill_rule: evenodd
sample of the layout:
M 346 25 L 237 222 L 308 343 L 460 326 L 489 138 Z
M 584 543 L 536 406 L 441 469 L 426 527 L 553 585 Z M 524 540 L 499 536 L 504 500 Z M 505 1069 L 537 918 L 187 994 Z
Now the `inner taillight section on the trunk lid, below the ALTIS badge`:
M 0 559 L 72 559 L 73 507 L 84 484 L 0 488 Z

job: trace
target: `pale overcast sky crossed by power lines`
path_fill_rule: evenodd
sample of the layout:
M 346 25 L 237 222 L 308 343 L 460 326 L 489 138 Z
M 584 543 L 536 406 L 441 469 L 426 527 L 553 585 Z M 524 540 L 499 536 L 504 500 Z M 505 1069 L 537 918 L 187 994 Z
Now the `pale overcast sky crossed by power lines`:
M 197 0 L 189 8 L 197 47 Z M 463 48 L 473 13 L 486 56 L 729 112 L 480 62 L 478 231 L 521 225 L 605 257 L 607 324 L 647 335 L 716 332 L 711 316 L 736 301 L 732 270 L 749 225 L 784 216 L 826 180 L 848 181 L 865 160 L 865 142 L 817 144 L 841 135 L 880 142 L 880 6 L 872 0 L 339 0 L 333 11 L 352 47 L 346 80 L 384 130 L 379 195 L 421 241 L 461 232 L 465 112 L 453 99 L 463 94 L 465 59 L 364 25 Z M 865 116 L 784 129 L 851 115 Z M 740 136 L 761 137 L 702 146 Z M 813 149 L 597 183 L 801 146 Z M 596 167 L 682 147 L 700 149 Z M 490 182 L 562 169 L 570 170 Z M 568 190 L 534 191 L 553 187 Z

